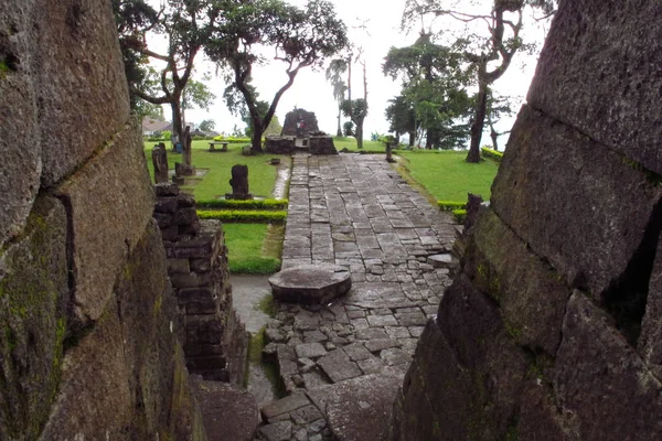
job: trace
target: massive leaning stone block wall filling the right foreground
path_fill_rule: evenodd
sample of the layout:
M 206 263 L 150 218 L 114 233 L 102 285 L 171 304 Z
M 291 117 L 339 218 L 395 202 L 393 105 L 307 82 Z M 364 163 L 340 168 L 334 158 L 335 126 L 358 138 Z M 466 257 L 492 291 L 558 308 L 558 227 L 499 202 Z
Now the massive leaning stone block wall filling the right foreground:
M 662 437 L 661 12 L 559 2 L 392 440 Z

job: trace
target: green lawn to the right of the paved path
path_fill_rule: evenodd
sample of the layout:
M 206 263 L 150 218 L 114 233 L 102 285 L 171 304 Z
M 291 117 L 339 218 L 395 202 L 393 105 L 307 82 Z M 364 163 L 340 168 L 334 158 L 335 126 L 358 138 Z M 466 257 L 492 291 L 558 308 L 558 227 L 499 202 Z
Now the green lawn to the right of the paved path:
M 466 202 L 467 193 L 480 194 L 490 200 L 490 187 L 499 164 L 483 160 L 478 164 L 465 161 L 466 151 L 405 151 L 397 152 L 406 159 L 403 164 L 408 174 L 423 185 L 434 200 Z

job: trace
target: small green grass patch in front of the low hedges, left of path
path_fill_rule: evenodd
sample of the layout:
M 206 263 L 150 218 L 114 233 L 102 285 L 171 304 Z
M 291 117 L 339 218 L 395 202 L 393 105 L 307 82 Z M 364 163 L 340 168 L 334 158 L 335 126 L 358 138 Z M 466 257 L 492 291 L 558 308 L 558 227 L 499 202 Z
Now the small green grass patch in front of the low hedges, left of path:
M 269 275 L 279 270 L 279 250 L 270 251 L 265 241 L 268 239 L 267 225 L 264 224 L 223 224 L 229 272 Z

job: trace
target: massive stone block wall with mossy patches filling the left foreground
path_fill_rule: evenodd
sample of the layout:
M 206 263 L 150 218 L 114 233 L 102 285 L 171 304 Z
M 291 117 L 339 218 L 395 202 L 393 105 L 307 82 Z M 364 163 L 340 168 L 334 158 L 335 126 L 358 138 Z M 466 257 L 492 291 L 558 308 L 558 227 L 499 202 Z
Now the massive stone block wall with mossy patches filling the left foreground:
M 110 3 L 0 0 L 0 439 L 204 439 Z

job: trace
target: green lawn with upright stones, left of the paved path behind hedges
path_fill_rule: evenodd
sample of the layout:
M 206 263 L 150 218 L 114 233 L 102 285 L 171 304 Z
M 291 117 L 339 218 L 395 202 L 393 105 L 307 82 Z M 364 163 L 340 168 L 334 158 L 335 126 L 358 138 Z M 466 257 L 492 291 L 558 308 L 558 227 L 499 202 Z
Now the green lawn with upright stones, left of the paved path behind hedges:
M 145 154 L 150 176 L 153 182 L 153 166 L 151 161 L 151 149 L 156 142 L 145 143 Z M 182 155 L 170 150 L 170 146 L 166 144 L 168 150 L 168 166 L 174 169 L 175 162 L 182 162 Z M 269 197 L 276 182 L 277 169 L 269 164 L 269 159 L 274 154 L 260 154 L 256 157 L 243 157 L 243 144 L 229 144 L 225 153 L 210 153 L 209 141 L 193 141 L 193 151 L 191 159 L 193 165 L 199 169 L 209 169 L 209 172 L 197 182 L 193 189 L 193 195 L 196 200 L 213 200 L 225 193 L 232 193 L 229 179 L 232 178 L 231 170 L 235 164 L 248 165 L 248 187 L 255 196 Z M 281 157 L 281 161 L 287 161 L 288 158 Z M 188 187 L 182 187 L 186 191 Z M 190 190 L 190 189 L 189 189 Z

